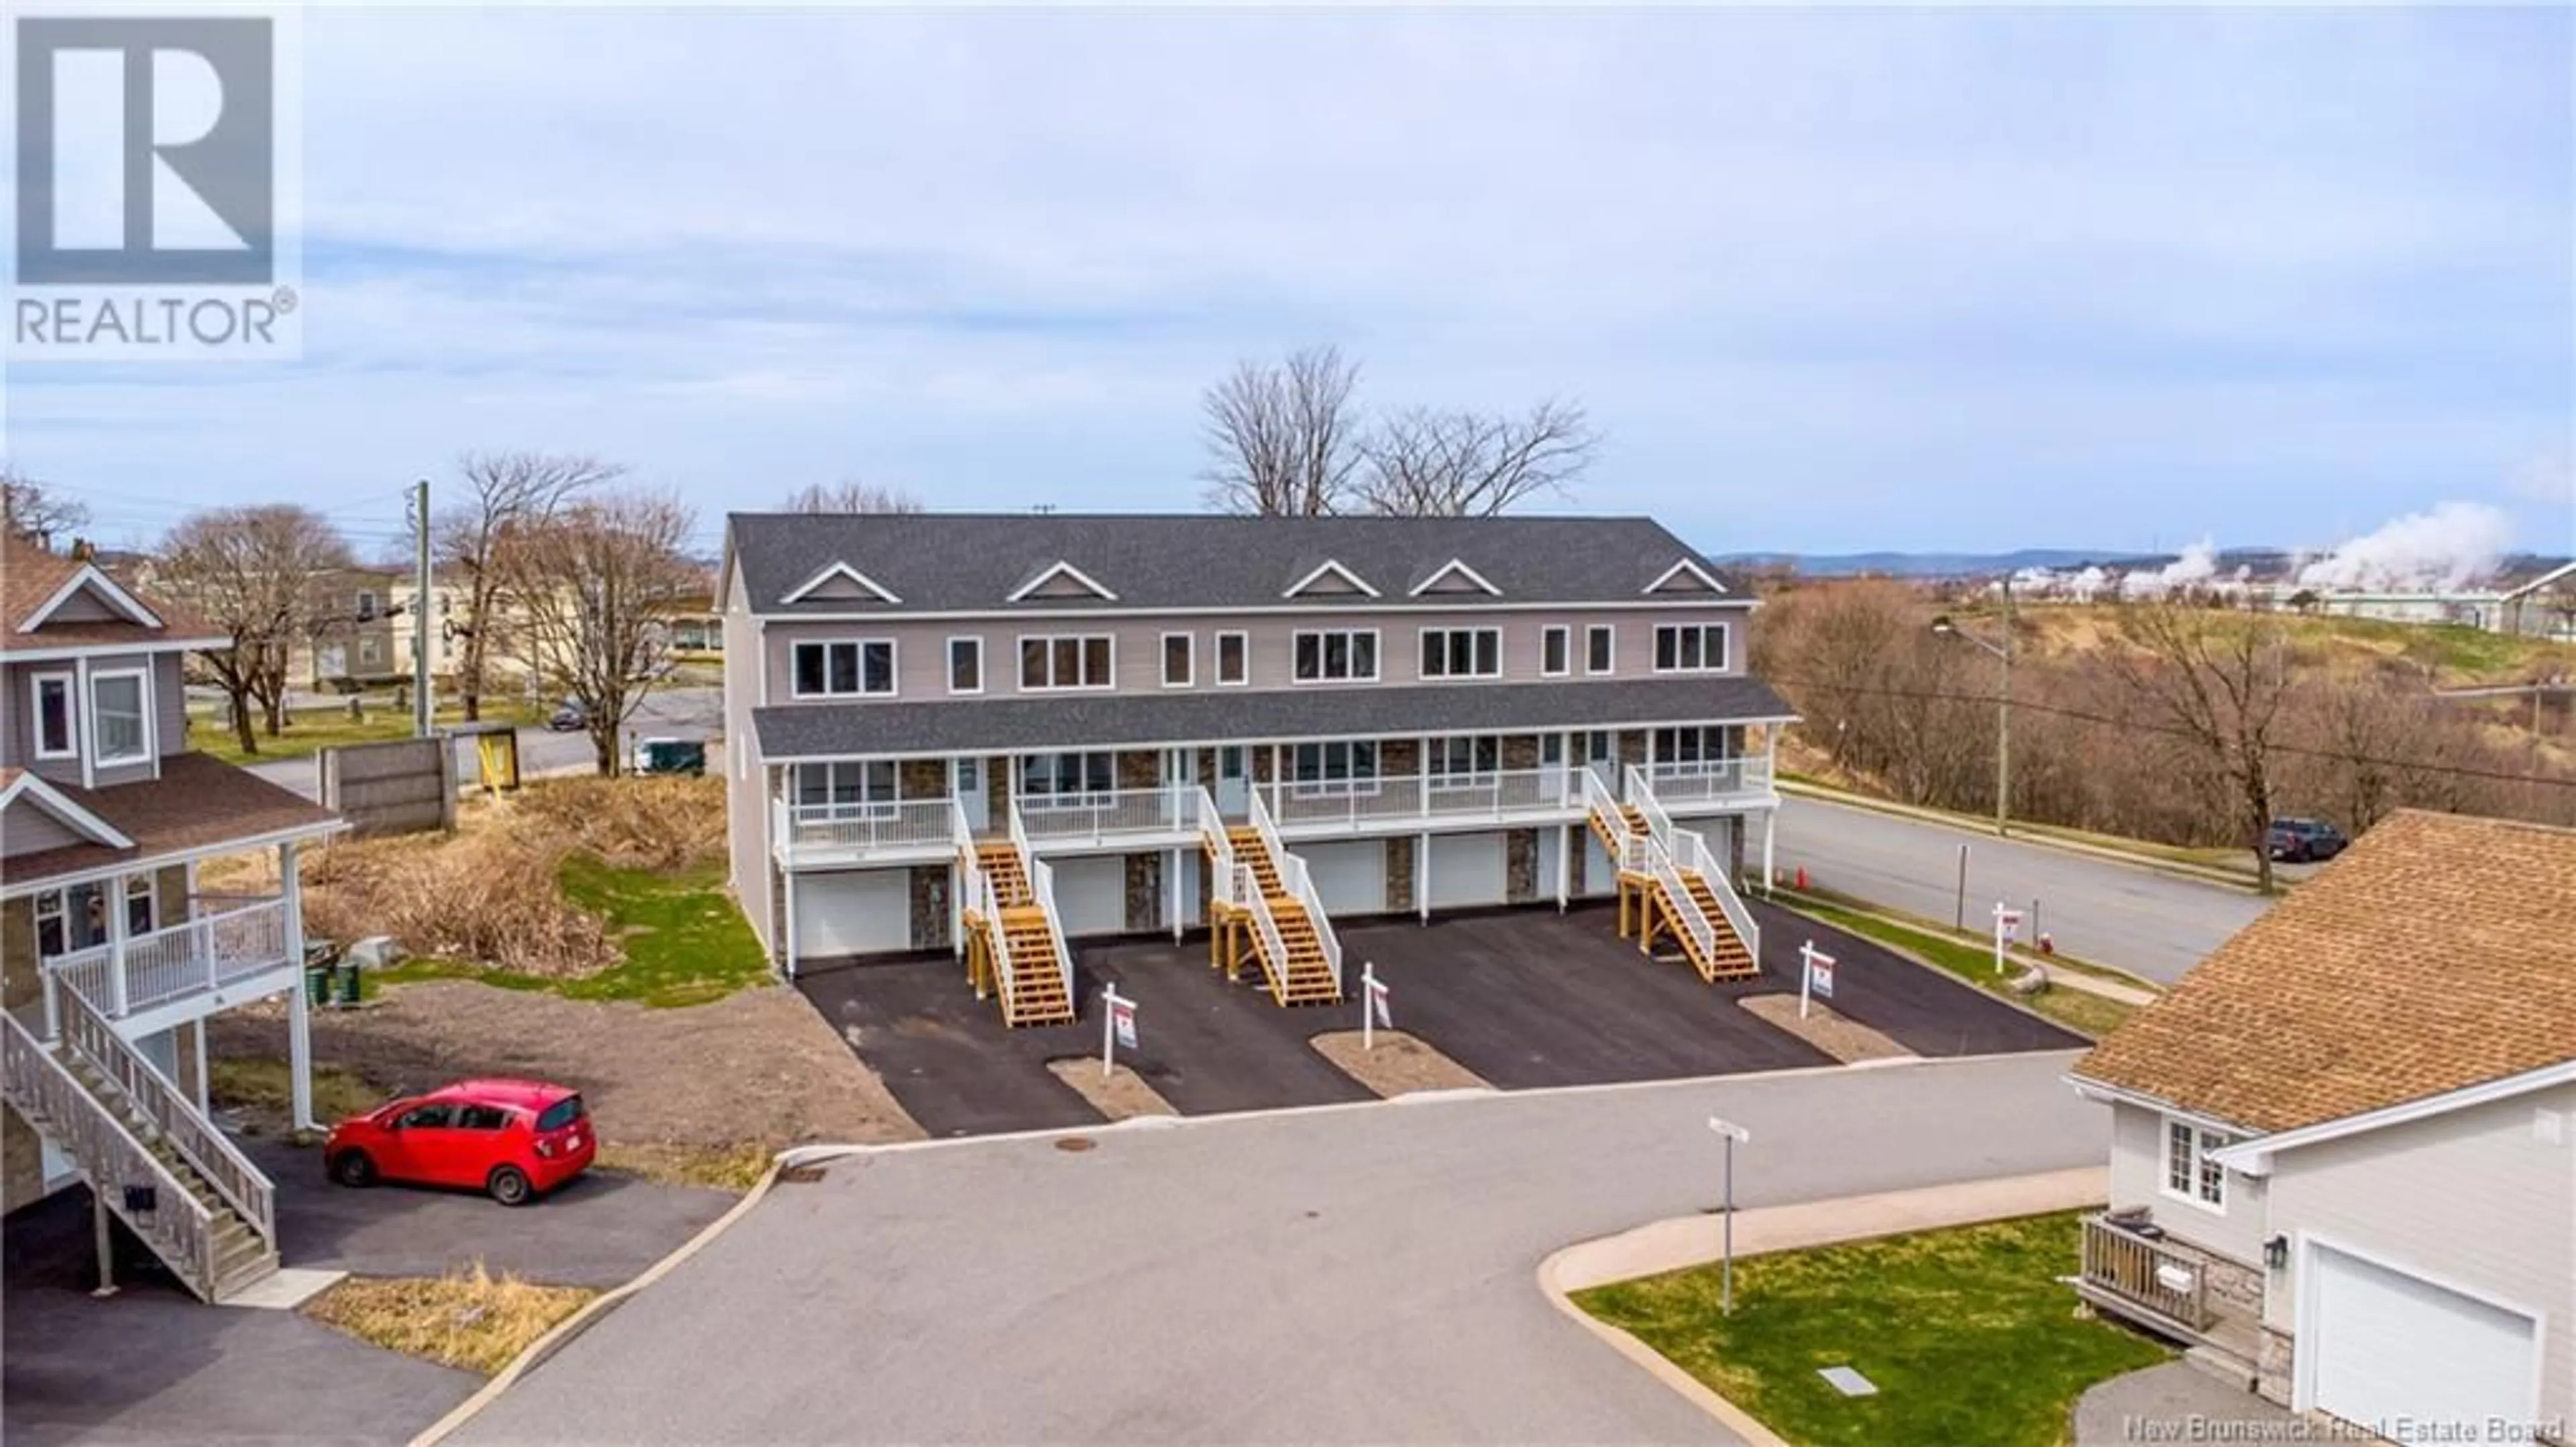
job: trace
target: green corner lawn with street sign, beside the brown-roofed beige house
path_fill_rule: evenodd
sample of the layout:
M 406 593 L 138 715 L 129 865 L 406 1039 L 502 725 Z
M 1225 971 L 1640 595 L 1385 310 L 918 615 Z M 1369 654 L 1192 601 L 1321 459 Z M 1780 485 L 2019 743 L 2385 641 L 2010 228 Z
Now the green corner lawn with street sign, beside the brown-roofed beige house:
M 2076 1269 L 2076 1215 L 2035 1215 L 1695 1266 L 1579 1292 L 1790 1442 L 1883 1447 L 2066 1442 L 2076 1395 L 2166 1359 L 2166 1349 L 2076 1318 L 2056 1282 Z M 1852 1367 L 1878 1395 L 1844 1398 L 1819 1367 Z

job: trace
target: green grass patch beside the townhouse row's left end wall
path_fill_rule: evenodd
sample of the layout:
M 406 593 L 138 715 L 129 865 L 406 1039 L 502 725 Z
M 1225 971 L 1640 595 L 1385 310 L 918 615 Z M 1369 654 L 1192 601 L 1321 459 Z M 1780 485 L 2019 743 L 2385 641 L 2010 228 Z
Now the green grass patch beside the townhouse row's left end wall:
M 404 960 L 363 980 L 368 993 L 412 980 L 482 980 L 502 990 L 554 990 L 572 1001 L 641 1001 L 647 1006 L 703 1006 L 770 978 L 770 962 L 750 921 L 724 895 L 724 864 L 683 872 L 616 869 L 590 854 L 564 859 L 556 882 L 574 905 L 608 921 L 626 952 L 623 965 L 580 980 L 551 980 L 515 970 Z

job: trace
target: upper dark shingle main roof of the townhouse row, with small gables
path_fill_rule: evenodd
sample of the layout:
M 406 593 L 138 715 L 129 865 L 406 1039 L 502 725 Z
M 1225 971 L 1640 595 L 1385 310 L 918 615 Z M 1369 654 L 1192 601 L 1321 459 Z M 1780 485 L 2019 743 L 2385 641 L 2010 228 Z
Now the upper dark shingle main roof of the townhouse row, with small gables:
M 1100 606 L 1092 596 L 1010 593 L 1056 562 L 1133 609 L 1278 606 L 1291 583 L 1340 562 L 1378 591 L 1309 596 L 1324 606 L 1455 606 L 1471 593 L 1406 593 L 1453 557 L 1512 604 L 1623 604 L 1674 562 L 1692 560 L 1728 596 L 1752 593 L 1654 518 L 1234 518 L 1195 513 L 734 513 L 734 567 L 757 614 L 1046 611 Z M 902 604 L 781 598 L 835 562 L 866 573 Z

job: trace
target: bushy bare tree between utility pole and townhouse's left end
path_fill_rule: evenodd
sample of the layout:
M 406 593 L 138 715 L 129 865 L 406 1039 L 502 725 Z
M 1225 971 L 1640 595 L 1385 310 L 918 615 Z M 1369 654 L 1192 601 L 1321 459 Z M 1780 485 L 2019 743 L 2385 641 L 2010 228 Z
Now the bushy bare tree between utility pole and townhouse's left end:
M 523 619 L 518 658 L 582 704 L 611 779 L 626 766 L 626 717 L 670 676 L 670 614 L 706 588 L 680 552 L 690 526 L 670 493 L 603 493 L 507 529 L 495 552 Z

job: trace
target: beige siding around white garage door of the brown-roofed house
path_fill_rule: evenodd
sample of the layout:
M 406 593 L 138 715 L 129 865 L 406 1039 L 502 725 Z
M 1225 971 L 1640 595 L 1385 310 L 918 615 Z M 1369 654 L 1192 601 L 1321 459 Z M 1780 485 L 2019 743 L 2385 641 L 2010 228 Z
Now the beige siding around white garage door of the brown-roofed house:
M 2272 1233 L 2313 1233 L 2543 1313 L 2540 1416 L 2576 1421 L 2576 1086 L 2282 1150 L 2269 1207 Z M 2264 1321 L 2282 1331 L 2293 1272 L 2264 1295 Z

